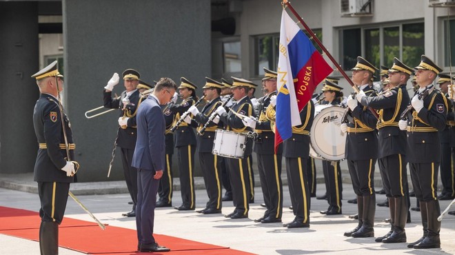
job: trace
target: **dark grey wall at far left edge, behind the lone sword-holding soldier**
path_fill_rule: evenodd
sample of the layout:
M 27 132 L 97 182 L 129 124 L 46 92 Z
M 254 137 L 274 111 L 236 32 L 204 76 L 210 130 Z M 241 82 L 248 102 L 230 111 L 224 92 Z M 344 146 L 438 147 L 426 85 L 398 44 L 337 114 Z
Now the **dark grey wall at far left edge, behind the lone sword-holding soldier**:
M 0 1 L 0 173 L 33 172 L 37 138 L 33 108 L 39 90 L 37 2 Z

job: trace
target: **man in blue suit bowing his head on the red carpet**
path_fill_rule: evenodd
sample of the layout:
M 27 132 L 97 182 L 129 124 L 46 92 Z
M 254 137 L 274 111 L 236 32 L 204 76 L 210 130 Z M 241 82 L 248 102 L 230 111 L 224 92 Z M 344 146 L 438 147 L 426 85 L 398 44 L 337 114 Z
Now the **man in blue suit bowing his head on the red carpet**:
M 177 89 L 169 78 L 161 78 L 154 92 L 141 103 L 137 116 L 137 142 L 132 166 L 137 174 L 136 229 L 139 252 L 169 252 L 153 237 L 154 210 L 165 159 L 165 120 L 160 105 L 168 103 Z

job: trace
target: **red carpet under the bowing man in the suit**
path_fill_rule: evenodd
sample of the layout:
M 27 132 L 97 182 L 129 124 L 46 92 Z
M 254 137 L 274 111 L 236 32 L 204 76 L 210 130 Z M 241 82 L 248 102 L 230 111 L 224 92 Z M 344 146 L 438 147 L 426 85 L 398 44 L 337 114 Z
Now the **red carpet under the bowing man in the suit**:
M 41 219 L 37 212 L 0 207 L 0 233 L 38 241 Z M 154 234 L 156 242 L 171 249 L 163 254 L 250 254 L 187 239 Z M 64 218 L 59 228 L 59 245 L 86 254 L 141 254 L 137 247 L 136 230 L 106 226 Z M 158 253 L 154 253 L 158 254 Z

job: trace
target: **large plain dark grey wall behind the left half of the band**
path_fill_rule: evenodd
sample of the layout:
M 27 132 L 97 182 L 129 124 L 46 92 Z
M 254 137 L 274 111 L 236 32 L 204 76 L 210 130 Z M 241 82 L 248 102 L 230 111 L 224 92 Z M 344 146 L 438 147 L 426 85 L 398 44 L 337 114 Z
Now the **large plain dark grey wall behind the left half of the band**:
M 210 0 L 63 0 L 63 34 L 65 102 L 81 181 L 108 180 L 118 112 L 90 120 L 83 114 L 103 104 L 114 72 L 134 68 L 144 81 L 169 76 L 179 84 L 185 76 L 197 85 L 211 72 Z M 123 178 L 119 150 L 116 157 L 109 180 Z

